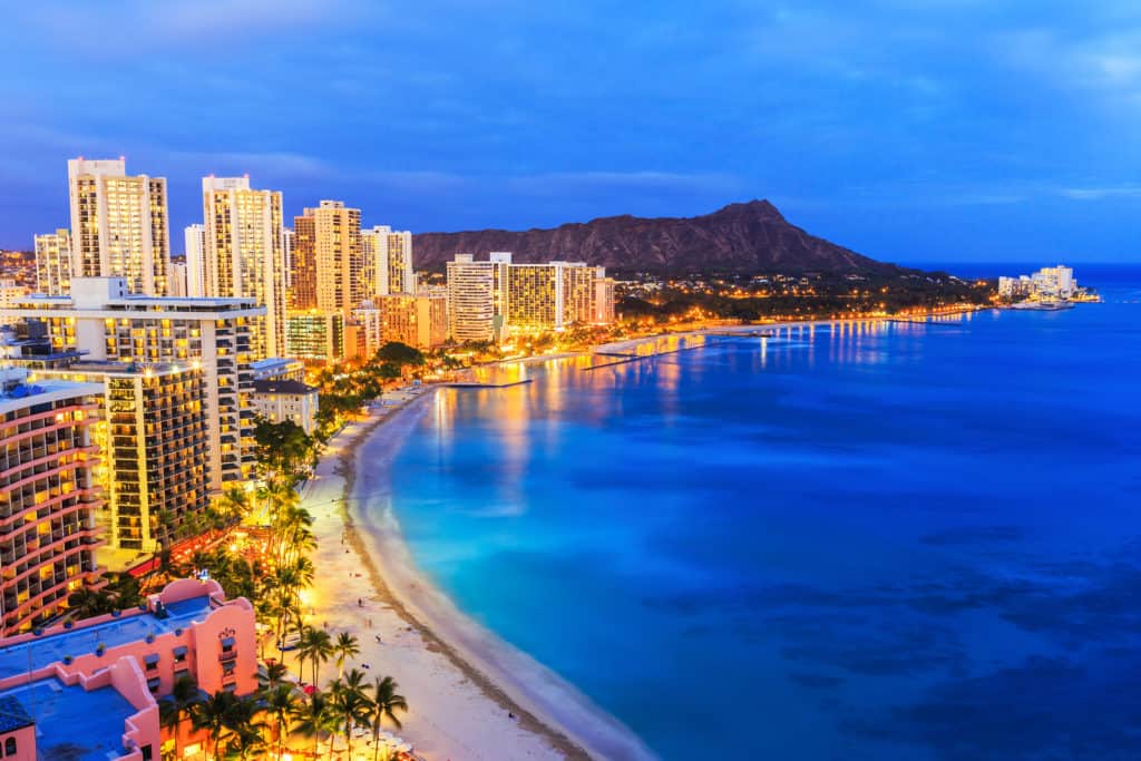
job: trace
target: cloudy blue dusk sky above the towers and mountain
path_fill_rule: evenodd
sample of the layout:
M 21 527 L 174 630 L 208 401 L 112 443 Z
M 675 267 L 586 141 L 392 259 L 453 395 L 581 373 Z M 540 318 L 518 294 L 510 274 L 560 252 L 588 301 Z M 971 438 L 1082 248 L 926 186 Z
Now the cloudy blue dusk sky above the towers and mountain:
M 0 246 L 66 160 L 525 229 L 768 199 L 877 259 L 1141 261 L 1136 0 L 13 3 Z

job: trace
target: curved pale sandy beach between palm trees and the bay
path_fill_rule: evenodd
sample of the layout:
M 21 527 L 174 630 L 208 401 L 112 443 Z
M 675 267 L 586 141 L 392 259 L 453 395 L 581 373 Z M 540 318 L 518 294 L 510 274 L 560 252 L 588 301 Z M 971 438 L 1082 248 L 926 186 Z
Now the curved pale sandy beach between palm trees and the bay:
M 308 623 L 356 634 L 361 654 L 346 667 L 367 664 L 367 673 L 399 682 L 411 710 L 395 731 L 430 761 L 654 758 L 629 729 L 472 623 L 416 573 L 388 504 L 388 465 L 435 394 L 387 394 L 395 402 L 387 415 L 342 430 L 302 488 L 318 539 Z M 335 671 L 322 666 L 321 681 Z

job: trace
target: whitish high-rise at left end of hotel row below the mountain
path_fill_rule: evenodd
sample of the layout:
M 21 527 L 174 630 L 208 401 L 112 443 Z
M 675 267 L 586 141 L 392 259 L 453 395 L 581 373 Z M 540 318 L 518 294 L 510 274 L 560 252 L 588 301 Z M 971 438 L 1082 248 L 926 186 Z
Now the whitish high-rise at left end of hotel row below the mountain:
M 510 253 L 488 261 L 458 253 L 447 262 L 447 332 L 454 341 L 497 341 L 503 330 L 503 298 Z

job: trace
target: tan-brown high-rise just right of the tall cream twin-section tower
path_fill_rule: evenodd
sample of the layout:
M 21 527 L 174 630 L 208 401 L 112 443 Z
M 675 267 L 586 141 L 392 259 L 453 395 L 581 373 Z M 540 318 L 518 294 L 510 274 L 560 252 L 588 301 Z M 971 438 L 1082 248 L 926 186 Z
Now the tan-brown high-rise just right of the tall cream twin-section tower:
M 293 308 L 339 311 L 348 318 L 369 296 L 361 210 L 347 209 L 342 201 L 322 201 L 297 217 L 293 229 Z

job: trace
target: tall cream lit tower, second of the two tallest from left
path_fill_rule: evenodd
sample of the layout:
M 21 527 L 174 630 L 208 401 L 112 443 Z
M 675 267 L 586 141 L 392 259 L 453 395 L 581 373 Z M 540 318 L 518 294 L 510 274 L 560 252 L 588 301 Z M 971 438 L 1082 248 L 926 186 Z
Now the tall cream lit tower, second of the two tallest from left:
M 266 316 L 253 325 L 253 351 L 285 347 L 285 253 L 282 194 L 252 191 L 248 177 L 202 179 L 205 219 L 205 294 L 253 299 Z

